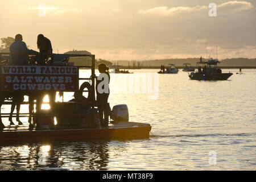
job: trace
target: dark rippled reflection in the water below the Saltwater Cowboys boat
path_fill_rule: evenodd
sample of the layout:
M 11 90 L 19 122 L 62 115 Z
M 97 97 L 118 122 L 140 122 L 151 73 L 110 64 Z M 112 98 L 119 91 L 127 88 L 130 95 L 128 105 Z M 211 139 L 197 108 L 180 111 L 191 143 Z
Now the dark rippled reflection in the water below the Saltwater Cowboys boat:
M 108 160 L 107 141 L 0 146 L 0 170 L 39 168 L 107 170 Z

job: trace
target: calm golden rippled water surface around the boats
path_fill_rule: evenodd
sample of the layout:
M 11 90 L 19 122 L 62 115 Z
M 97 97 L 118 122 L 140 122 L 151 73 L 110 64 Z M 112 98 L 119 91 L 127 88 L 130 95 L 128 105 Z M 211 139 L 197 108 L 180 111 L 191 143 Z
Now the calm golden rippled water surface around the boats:
M 131 71 L 134 74 L 110 75 L 110 106 L 127 104 L 130 121 L 150 123 L 150 138 L 1 144 L 0 169 L 256 169 L 256 69 L 243 69 L 244 75 L 234 74 L 228 81 L 192 81 L 181 70 L 177 75 Z M 238 69 L 222 70 L 229 71 Z M 146 91 L 134 91 L 144 83 L 129 85 L 134 77 L 147 78 Z M 158 94 L 148 84 L 150 77 Z M 72 93 L 65 95 L 65 101 L 71 98 Z M 22 110 L 27 112 L 27 106 Z M 5 105 L 2 111 L 10 108 Z M 21 120 L 28 125 L 26 118 Z

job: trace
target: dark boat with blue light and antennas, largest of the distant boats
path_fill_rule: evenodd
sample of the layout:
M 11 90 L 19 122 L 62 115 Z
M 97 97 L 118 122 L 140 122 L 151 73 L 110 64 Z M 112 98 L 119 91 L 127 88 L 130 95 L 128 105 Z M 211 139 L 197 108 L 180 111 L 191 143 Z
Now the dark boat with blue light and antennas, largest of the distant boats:
M 208 61 L 197 62 L 199 71 L 191 72 L 188 76 L 191 80 L 228 80 L 233 73 L 222 73 L 221 69 L 217 67 L 218 63 L 220 61 L 212 58 Z

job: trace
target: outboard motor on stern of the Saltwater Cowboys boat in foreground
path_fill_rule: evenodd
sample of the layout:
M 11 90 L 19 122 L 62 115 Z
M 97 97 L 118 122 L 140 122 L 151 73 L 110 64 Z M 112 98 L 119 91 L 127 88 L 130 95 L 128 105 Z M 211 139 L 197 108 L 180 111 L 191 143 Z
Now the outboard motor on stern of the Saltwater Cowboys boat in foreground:
M 126 104 L 115 105 L 112 109 L 114 121 L 129 121 L 129 111 Z

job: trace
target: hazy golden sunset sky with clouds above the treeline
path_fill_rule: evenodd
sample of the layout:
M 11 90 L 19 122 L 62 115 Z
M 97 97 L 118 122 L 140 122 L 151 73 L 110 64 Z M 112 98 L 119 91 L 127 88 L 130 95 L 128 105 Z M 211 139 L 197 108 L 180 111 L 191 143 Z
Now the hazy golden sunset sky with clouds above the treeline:
M 55 53 L 86 50 L 96 59 L 256 57 L 256 0 L 1 0 L 0 7 L 0 38 L 22 34 L 34 50 L 43 34 Z

